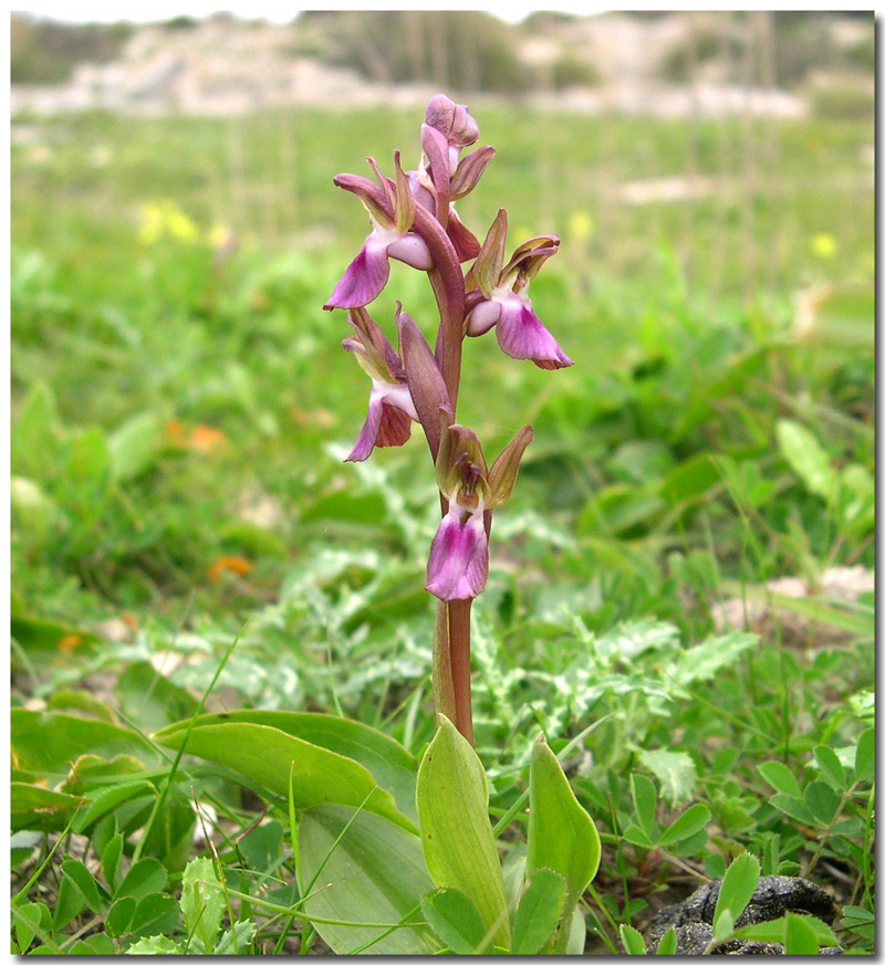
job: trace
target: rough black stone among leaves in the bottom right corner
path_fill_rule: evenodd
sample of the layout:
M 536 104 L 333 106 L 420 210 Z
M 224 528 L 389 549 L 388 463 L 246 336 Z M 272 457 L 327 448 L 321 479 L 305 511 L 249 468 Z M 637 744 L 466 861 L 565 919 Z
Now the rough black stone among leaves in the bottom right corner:
M 673 926 L 676 931 L 677 955 L 700 955 L 712 940 L 712 913 L 719 898 L 719 881 L 711 881 L 690 894 L 679 904 L 663 908 L 648 926 L 650 945 L 648 954 L 657 951 L 664 933 Z M 756 891 L 741 912 L 737 927 L 771 922 L 788 912 L 814 915 L 832 925 L 836 917 L 836 904 L 820 885 L 804 878 L 787 878 L 782 874 L 763 875 Z M 727 942 L 717 947 L 714 955 L 782 955 L 783 946 L 771 942 Z M 835 947 L 821 948 L 821 955 L 841 955 Z

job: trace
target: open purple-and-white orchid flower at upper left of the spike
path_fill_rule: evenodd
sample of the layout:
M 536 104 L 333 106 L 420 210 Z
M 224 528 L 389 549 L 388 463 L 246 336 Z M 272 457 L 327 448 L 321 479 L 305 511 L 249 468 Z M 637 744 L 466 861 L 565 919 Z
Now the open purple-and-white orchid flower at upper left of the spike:
M 339 175 L 334 181 L 352 191 L 368 212 L 372 233 L 341 276 L 324 308 L 361 308 L 373 302 L 387 284 L 391 274 L 388 258 L 395 258 L 420 271 L 434 268 L 434 260 L 423 238 L 410 229 L 415 222 L 415 199 L 408 178 L 395 155 L 396 181 L 383 177 L 372 158 L 381 188 L 367 178 Z

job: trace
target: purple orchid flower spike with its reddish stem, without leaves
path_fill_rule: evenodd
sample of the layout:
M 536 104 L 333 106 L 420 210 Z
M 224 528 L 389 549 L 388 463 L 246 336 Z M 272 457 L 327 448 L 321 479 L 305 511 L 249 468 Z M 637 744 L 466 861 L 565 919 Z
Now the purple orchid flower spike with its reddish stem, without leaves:
M 425 584 L 439 601 L 434 701 L 437 714 L 470 742 L 470 607 L 486 586 L 492 512 L 509 499 L 533 433 L 530 426 L 521 429 L 488 466 L 476 432 L 457 422 L 464 340 L 494 328 L 511 358 L 543 369 L 572 365 L 529 298 L 532 279 L 556 253 L 559 239 L 531 238 L 504 261 L 506 211 L 498 212 L 481 245 L 455 211 L 494 154 L 486 146 L 462 156 L 478 138 L 467 107 L 440 94 L 427 106 L 417 170 L 404 171 L 395 151 L 393 177 L 368 158 L 375 180 L 346 174 L 334 179 L 363 203 L 372 232 L 324 305 L 346 310 L 355 334 L 343 346 L 372 379 L 368 413 L 347 458 L 362 461 L 375 447 L 402 445 L 413 422 L 424 429 L 441 504 Z M 399 302 L 398 352 L 366 311 L 387 284 L 392 258 L 427 273 L 439 313 L 433 349 Z

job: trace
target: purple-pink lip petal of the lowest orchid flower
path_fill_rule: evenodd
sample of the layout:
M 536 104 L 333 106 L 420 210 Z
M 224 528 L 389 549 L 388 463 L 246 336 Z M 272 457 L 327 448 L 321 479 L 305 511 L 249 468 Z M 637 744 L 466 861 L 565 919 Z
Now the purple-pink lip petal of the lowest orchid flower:
M 489 575 L 489 539 L 482 512 L 452 504 L 439 523 L 427 560 L 425 589 L 440 600 L 469 600 L 482 592 Z

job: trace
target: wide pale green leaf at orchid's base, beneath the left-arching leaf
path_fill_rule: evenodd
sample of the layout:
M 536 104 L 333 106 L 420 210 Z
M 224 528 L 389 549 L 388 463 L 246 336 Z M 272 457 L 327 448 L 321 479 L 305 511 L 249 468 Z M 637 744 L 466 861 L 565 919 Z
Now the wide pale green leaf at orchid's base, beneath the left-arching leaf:
M 429 955 L 439 950 L 421 919 L 420 898 L 434 882 L 415 835 L 378 815 L 333 805 L 305 811 L 298 827 L 301 893 L 313 882 L 304 910 L 363 923 L 315 923 L 335 954 L 351 954 L 373 940 L 378 941 L 366 948 L 372 955 Z M 400 920 L 412 924 L 394 930 L 365 925 Z

